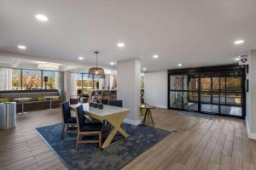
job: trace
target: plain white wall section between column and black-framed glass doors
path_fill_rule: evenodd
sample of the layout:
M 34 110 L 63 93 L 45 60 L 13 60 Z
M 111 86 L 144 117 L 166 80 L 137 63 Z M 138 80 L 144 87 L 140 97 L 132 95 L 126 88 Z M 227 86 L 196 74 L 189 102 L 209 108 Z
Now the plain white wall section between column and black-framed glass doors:
M 167 71 L 145 73 L 145 102 L 167 108 Z

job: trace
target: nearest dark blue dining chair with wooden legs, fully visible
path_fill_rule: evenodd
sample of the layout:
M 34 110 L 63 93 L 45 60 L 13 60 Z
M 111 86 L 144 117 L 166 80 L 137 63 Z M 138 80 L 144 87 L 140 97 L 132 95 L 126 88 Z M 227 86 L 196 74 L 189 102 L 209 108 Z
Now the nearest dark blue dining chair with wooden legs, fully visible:
M 76 149 L 79 144 L 98 143 L 99 147 L 102 146 L 102 122 L 85 122 L 83 105 L 77 107 L 77 122 L 78 122 L 78 137 Z M 98 136 L 98 140 L 83 140 L 83 136 Z

